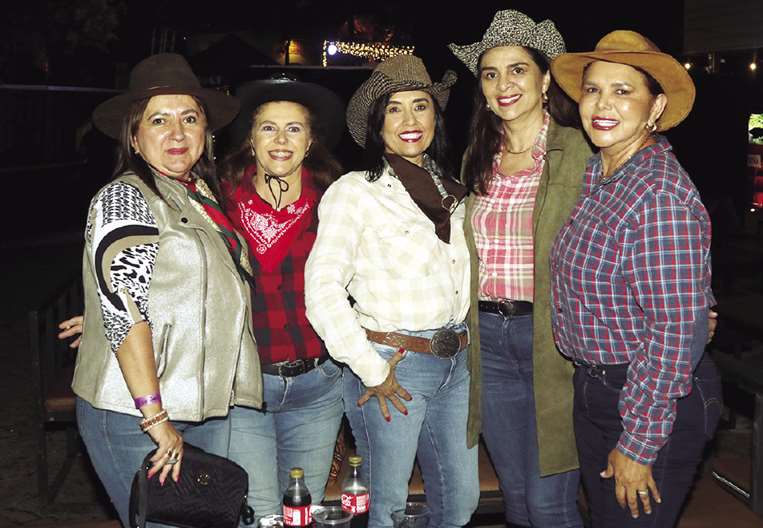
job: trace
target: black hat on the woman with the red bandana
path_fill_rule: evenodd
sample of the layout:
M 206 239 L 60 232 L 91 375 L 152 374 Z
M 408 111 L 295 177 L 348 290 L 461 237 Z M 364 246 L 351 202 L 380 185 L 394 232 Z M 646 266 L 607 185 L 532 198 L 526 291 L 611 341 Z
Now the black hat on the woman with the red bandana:
M 327 149 L 334 148 L 342 138 L 344 103 L 338 95 L 319 84 L 298 81 L 278 73 L 270 79 L 242 84 L 235 93 L 241 101 L 241 111 L 229 129 L 235 146 L 241 145 L 249 137 L 254 111 L 263 104 L 274 101 L 298 103 L 309 109 L 318 121 L 311 125 Z

